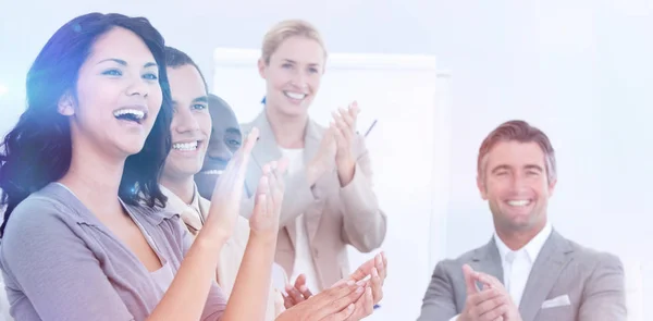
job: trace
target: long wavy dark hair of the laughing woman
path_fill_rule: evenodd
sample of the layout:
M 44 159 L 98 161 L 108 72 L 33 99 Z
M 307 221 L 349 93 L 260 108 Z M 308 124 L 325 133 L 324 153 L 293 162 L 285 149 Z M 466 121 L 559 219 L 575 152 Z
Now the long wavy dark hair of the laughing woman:
M 119 196 L 131 205 L 144 201 L 149 207 L 165 206 L 158 178 L 171 147 L 172 99 L 163 37 L 145 17 L 89 13 L 59 28 L 27 73 L 27 110 L 0 146 L 0 205 L 7 206 L 0 237 L 21 201 L 67 172 L 71 131 L 69 119 L 58 111 L 58 102 L 64 94 L 75 92 L 79 67 L 93 45 L 114 27 L 128 29 L 145 41 L 159 65 L 163 94 L 161 110 L 143 150 L 125 161 Z

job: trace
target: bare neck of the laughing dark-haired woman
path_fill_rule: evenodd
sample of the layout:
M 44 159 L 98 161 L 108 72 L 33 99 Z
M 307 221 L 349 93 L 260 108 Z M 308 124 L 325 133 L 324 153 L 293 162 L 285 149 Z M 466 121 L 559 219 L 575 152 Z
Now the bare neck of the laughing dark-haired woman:
M 94 144 L 72 141 L 71 165 L 59 183 L 70 188 L 95 215 L 122 212 L 119 187 L 126 157 L 108 156 Z

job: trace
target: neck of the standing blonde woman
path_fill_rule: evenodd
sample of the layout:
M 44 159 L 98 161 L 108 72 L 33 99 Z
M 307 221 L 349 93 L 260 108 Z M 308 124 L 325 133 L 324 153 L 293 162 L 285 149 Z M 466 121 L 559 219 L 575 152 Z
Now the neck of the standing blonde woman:
M 272 108 L 266 108 L 266 115 L 279 146 L 283 148 L 304 147 L 308 114 L 294 116 L 275 112 Z

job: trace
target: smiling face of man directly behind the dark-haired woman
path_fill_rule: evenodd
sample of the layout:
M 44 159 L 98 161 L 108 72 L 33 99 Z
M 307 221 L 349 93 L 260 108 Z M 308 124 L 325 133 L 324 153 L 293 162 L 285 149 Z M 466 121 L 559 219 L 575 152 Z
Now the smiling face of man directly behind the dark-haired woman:
M 168 69 L 174 114 L 170 126 L 172 149 L 163 175 L 193 177 L 201 169 L 211 133 L 211 115 L 204 79 L 192 64 Z

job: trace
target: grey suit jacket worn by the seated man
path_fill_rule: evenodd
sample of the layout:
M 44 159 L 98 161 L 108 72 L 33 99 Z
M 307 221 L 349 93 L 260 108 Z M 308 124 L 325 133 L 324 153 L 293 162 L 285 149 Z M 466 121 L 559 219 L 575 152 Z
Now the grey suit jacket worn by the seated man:
M 438 263 L 418 321 L 448 321 L 463 311 L 465 263 L 503 282 L 501 256 L 492 238 L 455 260 Z M 533 263 L 519 313 L 523 321 L 625 321 L 625 292 L 624 268 L 616 256 L 584 248 L 553 231 Z M 565 295 L 569 305 L 542 307 Z

